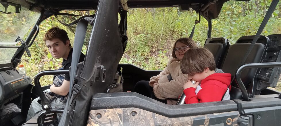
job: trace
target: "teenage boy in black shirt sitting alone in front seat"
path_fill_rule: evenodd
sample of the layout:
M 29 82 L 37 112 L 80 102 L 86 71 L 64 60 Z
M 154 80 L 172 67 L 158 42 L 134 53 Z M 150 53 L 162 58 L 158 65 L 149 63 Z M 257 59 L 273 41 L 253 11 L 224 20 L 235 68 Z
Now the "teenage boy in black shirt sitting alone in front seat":
M 69 69 L 72 61 L 73 48 L 71 47 L 66 31 L 58 27 L 52 27 L 46 32 L 43 40 L 54 58 L 63 58 L 63 62 L 61 63 L 63 70 Z M 84 58 L 85 55 L 81 53 L 79 62 L 84 61 Z M 44 91 L 47 101 L 50 103 L 52 108 L 64 108 L 68 98 L 69 87 L 69 74 L 54 76 L 53 85 L 51 85 L 50 89 Z M 41 100 L 39 98 L 34 99 L 28 110 L 26 121 L 28 121 L 41 110 Z

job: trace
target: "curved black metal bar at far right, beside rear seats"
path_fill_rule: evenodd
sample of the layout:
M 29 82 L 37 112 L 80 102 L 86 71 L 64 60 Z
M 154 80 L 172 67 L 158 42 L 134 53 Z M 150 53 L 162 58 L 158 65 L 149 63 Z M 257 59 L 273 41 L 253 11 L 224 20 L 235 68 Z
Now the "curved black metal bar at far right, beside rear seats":
M 251 63 L 251 64 L 242 64 L 238 67 L 235 72 L 235 81 L 238 84 L 243 96 L 243 101 L 250 101 L 248 97 L 248 92 L 245 85 L 243 84 L 240 75 L 245 68 L 272 68 L 272 67 L 281 67 L 281 62 L 271 62 L 271 63 Z

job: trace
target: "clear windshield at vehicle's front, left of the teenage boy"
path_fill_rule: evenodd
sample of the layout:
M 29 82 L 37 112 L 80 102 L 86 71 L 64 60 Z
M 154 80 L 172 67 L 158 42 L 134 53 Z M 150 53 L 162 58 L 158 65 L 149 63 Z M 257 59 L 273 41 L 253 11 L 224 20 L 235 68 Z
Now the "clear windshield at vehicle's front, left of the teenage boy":
M 22 7 L 20 13 L 5 14 L 0 12 L 0 64 L 10 63 L 18 48 L 15 40 L 20 36 L 22 40 L 28 36 L 30 29 L 38 20 L 40 13 Z

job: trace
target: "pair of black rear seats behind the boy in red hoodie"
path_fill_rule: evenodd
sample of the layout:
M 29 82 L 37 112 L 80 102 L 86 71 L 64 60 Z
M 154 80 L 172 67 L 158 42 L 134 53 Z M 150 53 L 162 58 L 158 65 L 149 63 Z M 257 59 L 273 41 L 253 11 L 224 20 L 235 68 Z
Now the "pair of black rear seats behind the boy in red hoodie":
M 217 68 L 221 68 L 225 73 L 230 73 L 232 78 L 239 66 L 242 65 L 242 60 L 247 53 L 254 36 L 243 36 L 239 38 L 235 44 L 230 46 L 226 38 L 211 38 L 207 39 L 204 48 L 210 50 L 215 58 Z M 265 47 L 269 43 L 269 38 L 261 36 L 255 43 L 251 53 L 247 57 L 246 63 L 259 63 L 261 62 Z M 253 78 L 257 69 L 245 69 L 241 73 L 241 80 L 246 88 L 251 88 Z M 235 81 L 232 82 L 232 90 L 230 91 L 231 99 L 242 99 L 242 94 L 237 88 Z

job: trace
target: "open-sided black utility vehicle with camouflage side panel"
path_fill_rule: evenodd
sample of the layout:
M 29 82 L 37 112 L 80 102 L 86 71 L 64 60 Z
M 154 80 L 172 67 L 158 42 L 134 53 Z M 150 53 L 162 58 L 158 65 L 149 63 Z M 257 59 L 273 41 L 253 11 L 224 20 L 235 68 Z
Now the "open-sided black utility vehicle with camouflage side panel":
M 25 29 L 30 27 L 26 26 L 28 24 L 19 25 L 18 33 L 8 33 L 14 34 L 14 38 L 1 37 L 5 42 L 0 45 L 0 110 L 14 103 L 21 112 L 1 116 L 0 125 L 280 125 L 280 92 L 267 87 L 274 88 L 280 76 L 281 34 L 261 35 L 278 0 L 272 1 L 255 36 L 241 36 L 232 45 L 227 38 L 211 38 L 211 20 L 218 17 L 226 1 L 0 0 L 1 12 L 32 12 L 29 23 L 35 23 L 25 40 L 18 36 L 23 36 L 20 31 L 28 31 Z M 126 92 L 133 91 L 136 82 L 149 80 L 161 72 L 119 64 L 128 40 L 128 8 L 148 7 L 179 7 L 181 11 L 192 8 L 207 19 L 204 47 L 213 53 L 217 68 L 232 74 L 231 100 L 166 105 L 135 92 Z M 58 13 L 61 10 L 96 10 L 96 13 L 79 16 Z M 40 23 L 52 15 L 75 31 L 72 67 L 39 72 L 33 85 L 30 78 L 23 78 L 15 68 L 25 52 L 30 56 L 28 47 L 32 46 Z M 6 27 L 7 31 L 11 28 Z M 15 41 L 21 45 L 13 44 Z M 82 44 L 87 46 L 86 57 L 84 62 L 78 63 Z M 65 109 L 51 108 L 43 94 L 50 86 L 41 87 L 40 77 L 66 73 L 70 73 L 71 97 Z M 42 99 L 44 110 L 25 122 L 31 99 L 36 97 Z

